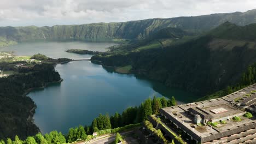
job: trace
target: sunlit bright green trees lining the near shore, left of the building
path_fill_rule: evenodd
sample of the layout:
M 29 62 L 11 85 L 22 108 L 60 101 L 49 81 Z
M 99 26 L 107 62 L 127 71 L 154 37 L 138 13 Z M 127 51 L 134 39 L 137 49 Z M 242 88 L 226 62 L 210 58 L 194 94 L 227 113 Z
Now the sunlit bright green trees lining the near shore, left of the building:
M 94 138 L 92 133 L 97 132 L 98 135 L 117 133 L 118 131 L 127 130 L 139 126 L 137 123 L 146 121 L 150 115 L 158 114 L 162 107 L 176 105 L 174 97 L 166 99 L 165 97 L 145 100 L 140 106 L 128 107 L 123 113 L 116 112 L 113 116 L 108 114 L 100 114 L 95 118 L 91 125 L 83 127 L 70 128 L 68 134 L 63 135 L 57 131 L 51 131 L 49 134 L 42 135 L 29 134 L 27 137 L 13 136 L 12 139 L 7 138 L 1 140 L 0 144 L 25 143 L 25 144 L 46 144 L 46 143 L 71 143 L 77 140 L 91 140 Z M 34 131 L 36 132 L 36 131 Z

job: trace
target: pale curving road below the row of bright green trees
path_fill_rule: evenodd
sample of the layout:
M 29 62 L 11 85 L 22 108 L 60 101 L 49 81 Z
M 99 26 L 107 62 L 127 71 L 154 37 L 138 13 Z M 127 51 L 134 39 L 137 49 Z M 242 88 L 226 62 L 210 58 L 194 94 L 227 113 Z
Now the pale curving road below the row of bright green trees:
M 133 130 L 126 131 L 126 132 L 120 133 L 120 135 L 121 136 L 130 135 L 130 134 L 133 134 L 133 132 L 134 132 Z M 113 142 L 115 140 L 115 135 L 116 134 L 100 136 L 100 137 L 97 137 L 97 139 L 94 141 L 86 142 L 86 144 L 103 144 L 103 143 L 107 144 L 107 143 Z M 85 144 L 85 142 L 79 142 L 77 144 Z

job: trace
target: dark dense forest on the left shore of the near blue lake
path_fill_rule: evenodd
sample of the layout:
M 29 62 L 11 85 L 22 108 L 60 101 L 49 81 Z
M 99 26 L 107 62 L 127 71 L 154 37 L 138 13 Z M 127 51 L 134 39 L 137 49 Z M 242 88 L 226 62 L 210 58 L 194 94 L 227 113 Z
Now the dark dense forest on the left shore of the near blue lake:
M 33 123 L 36 104 L 24 93 L 31 88 L 43 87 L 50 82 L 60 81 L 53 64 L 36 64 L 21 70 L 19 74 L 0 78 L 0 138 L 21 139 L 38 133 Z

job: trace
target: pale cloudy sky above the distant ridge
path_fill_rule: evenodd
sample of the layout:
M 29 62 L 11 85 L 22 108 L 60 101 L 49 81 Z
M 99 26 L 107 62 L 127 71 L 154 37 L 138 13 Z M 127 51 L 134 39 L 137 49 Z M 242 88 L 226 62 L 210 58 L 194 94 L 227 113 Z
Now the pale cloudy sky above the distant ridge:
M 0 26 L 79 25 L 245 12 L 255 0 L 1 0 Z

